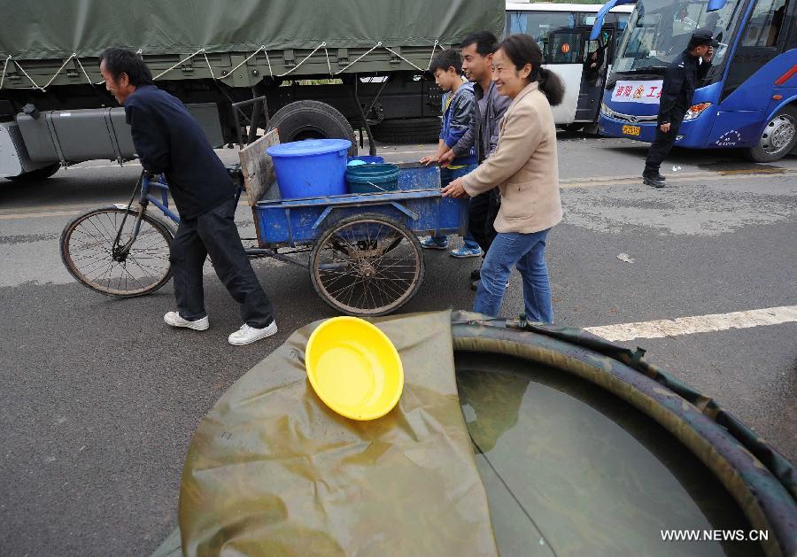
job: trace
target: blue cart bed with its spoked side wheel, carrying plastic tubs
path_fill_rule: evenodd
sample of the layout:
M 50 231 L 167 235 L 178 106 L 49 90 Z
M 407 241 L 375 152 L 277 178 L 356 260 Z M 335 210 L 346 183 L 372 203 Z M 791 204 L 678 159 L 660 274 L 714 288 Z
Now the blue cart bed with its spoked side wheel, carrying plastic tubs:
M 414 296 L 424 274 L 417 236 L 468 228 L 468 201 L 442 197 L 439 168 L 417 164 L 400 165 L 396 191 L 261 200 L 252 212 L 259 248 L 251 255 L 309 251 L 316 292 L 351 315 L 391 313 Z

